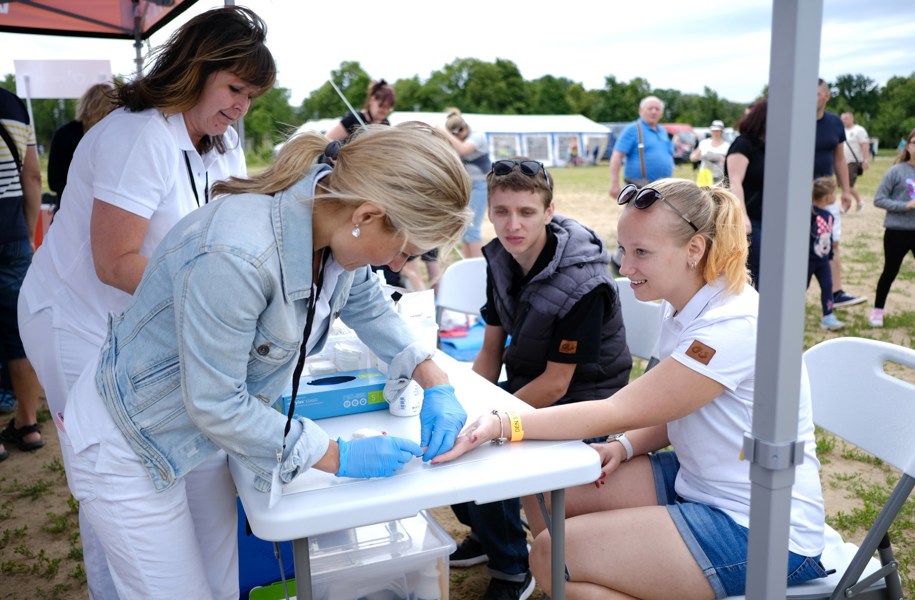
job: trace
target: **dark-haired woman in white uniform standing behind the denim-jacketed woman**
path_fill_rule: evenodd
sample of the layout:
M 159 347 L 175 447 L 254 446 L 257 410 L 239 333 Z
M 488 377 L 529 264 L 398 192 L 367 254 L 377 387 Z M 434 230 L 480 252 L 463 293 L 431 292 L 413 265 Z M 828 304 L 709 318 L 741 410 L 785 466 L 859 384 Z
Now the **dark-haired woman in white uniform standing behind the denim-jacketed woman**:
M 148 257 L 207 203 L 213 183 L 245 174 L 230 125 L 273 86 L 265 40 L 266 25 L 245 8 L 194 17 L 158 49 L 148 74 L 117 86 L 119 108 L 80 141 L 62 208 L 19 294 L 23 344 L 61 432 L 67 394 Z M 91 531 L 81 525 L 81 535 L 90 594 L 116 597 Z

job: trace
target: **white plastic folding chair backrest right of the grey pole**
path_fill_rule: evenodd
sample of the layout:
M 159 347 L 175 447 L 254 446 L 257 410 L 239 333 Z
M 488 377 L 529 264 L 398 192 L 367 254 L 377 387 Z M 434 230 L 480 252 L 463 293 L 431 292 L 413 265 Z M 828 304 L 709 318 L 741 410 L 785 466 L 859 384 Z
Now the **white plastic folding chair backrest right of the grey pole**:
M 821 342 L 804 353 L 814 422 L 907 475 L 915 475 L 915 385 L 885 368 L 915 369 L 915 350 L 854 337 Z

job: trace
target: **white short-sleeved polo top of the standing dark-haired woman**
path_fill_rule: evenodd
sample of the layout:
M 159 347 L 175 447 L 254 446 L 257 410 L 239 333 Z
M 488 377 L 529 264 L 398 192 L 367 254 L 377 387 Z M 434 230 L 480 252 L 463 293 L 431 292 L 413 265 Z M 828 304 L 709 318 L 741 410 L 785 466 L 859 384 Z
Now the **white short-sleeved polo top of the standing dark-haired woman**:
M 99 346 L 108 313 L 119 313 L 132 296 L 99 281 L 92 260 L 89 225 L 93 199 L 149 220 L 140 254 L 149 257 L 181 217 L 205 203 L 204 189 L 230 175 L 245 175 L 245 157 L 231 127 L 229 150 L 202 158 L 182 114 L 167 119 L 156 109 L 118 109 L 93 126 L 70 164 L 61 210 L 32 259 L 22 293 L 31 310 L 52 306 L 54 326 Z M 190 160 L 194 186 L 185 162 Z

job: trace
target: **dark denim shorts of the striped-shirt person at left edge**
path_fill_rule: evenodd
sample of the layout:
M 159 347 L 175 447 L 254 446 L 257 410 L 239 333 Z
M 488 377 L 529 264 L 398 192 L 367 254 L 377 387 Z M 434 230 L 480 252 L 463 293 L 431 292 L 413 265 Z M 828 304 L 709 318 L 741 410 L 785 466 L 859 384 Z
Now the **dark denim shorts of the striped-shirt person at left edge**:
M 19 338 L 19 288 L 32 262 L 28 239 L 0 244 L 0 360 L 25 358 Z

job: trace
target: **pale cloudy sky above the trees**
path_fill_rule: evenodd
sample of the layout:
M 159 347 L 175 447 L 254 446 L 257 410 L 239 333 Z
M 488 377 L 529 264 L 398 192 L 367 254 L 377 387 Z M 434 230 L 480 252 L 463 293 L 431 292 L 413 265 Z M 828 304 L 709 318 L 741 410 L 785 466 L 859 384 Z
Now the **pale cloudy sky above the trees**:
M 734 102 L 754 100 L 768 79 L 772 0 L 236 3 L 266 21 L 277 84 L 290 90 L 295 105 L 344 61 L 393 82 L 426 80 L 458 58 L 505 59 L 526 80 L 553 75 L 601 89 L 608 76 L 618 82 L 642 77 L 653 88 L 683 93 L 709 87 Z M 220 5 L 199 0 L 151 44 Z M 912 75 L 913 22 L 911 0 L 824 0 L 820 76 L 833 81 L 863 74 L 882 86 L 893 76 Z M 135 70 L 135 49 L 126 40 L 0 33 L 0 48 L 0 76 L 15 72 L 14 59 L 110 59 L 115 74 Z

